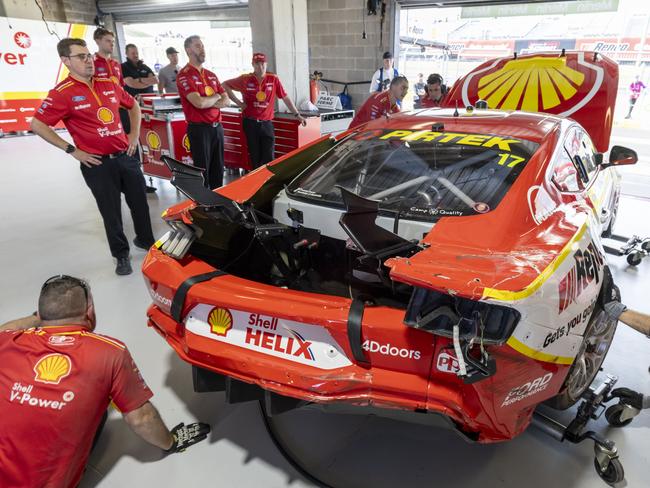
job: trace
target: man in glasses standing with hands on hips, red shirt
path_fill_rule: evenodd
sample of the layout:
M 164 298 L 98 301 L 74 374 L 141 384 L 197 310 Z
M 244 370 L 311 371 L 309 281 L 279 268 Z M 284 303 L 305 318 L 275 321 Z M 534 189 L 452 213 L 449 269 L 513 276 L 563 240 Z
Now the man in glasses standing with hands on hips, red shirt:
M 57 51 L 70 76 L 50 90 L 36 111 L 31 128 L 81 163 L 81 173 L 104 220 L 111 254 L 117 259 L 115 272 L 130 274 L 120 193 L 124 193 L 131 209 L 136 232 L 133 243 L 142 249 L 149 249 L 154 243 L 144 177 L 140 163 L 133 157 L 140 132 L 140 108 L 132 96 L 109 78 L 93 78 L 93 56 L 83 39 L 62 39 Z M 120 107 L 128 110 L 131 121 L 128 139 L 117 116 Z M 50 127 L 61 120 L 74 146 Z

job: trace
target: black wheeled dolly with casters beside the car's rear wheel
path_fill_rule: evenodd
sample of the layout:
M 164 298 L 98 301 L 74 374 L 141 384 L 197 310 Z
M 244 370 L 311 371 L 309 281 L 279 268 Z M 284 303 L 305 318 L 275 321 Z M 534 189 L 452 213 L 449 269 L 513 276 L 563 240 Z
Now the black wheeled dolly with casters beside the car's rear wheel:
M 619 403 L 605 410 L 605 403 L 618 398 L 611 395 L 617 381 L 616 376 L 607 375 L 605 381 L 598 386 L 592 384 L 583 394 L 583 401 L 578 407 L 578 412 L 568 426 L 538 411 L 535 411 L 532 420 L 532 425 L 560 442 L 566 440 L 578 444 L 586 439 L 593 440 L 594 467 L 598 476 L 609 485 L 615 485 L 625 478 L 616 445 L 602 435 L 592 430 L 585 432 L 584 429 L 590 420 L 599 419 L 603 412 L 607 422 L 614 427 L 623 427 L 629 424 L 639 414 L 638 409 L 627 405 L 622 398 L 619 398 Z

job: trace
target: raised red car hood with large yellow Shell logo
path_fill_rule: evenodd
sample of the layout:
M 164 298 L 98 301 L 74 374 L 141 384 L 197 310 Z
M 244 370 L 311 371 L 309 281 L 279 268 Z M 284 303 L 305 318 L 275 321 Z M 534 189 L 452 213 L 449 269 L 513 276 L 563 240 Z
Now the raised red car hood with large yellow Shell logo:
M 485 100 L 498 110 L 570 117 L 589 133 L 596 149 L 609 149 L 618 65 L 596 52 L 536 53 L 486 61 L 460 78 L 445 107 Z

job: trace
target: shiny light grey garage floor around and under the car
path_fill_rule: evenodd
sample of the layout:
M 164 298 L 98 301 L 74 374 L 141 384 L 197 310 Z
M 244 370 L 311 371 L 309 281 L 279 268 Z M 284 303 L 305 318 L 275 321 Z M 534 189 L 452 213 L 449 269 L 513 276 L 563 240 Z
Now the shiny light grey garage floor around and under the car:
M 0 153 L 0 322 L 31 313 L 46 278 L 84 277 L 93 288 L 98 332 L 129 345 L 168 425 L 198 419 L 213 426 L 207 442 L 163 459 L 112 412 L 81 487 L 313 486 L 276 450 L 256 404 L 230 406 L 221 393 L 192 391 L 190 367 L 146 327 L 150 298 L 140 274 L 114 274 L 101 219 L 76 161 L 33 136 L 0 140 Z M 154 233 L 161 235 L 166 229 L 156 216 L 179 195 L 166 182 L 156 185 L 149 205 Z M 623 198 L 616 230 L 649 236 L 648 215 L 650 200 Z M 132 238 L 126 207 L 124 216 Z M 134 268 L 144 254 L 133 251 Z M 611 257 L 610 265 L 628 306 L 649 313 L 650 260 L 635 269 Z M 650 393 L 649 365 L 650 341 L 621 326 L 605 371 L 618 375 L 619 385 Z M 313 411 L 284 414 L 278 426 L 336 487 L 605 486 L 593 469 L 591 443 L 559 444 L 532 428 L 511 442 L 482 446 L 441 429 Z M 648 486 L 650 414 L 621 430 L 608 430 L 604 419 L 592 428 L 616 441 L 628 486 Z

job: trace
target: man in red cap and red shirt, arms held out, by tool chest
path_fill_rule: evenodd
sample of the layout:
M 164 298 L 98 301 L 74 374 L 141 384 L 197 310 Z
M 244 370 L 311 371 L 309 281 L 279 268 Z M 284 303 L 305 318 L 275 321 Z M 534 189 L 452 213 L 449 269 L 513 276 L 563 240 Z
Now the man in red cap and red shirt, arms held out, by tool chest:
M 280 78 L 266 71 L 266 55 L 253 54 L 252 64 L 252 73 L 228 80 L 223 87 L 230 99 L 242 109 L 242 128 L 246 134 L 248 155 L 253 168 L 259 168 L 274 159 L 275 132 L 272 120 L 275 97 L 284 102 L 301 124 L 305 125 L 306 121 L 284 91 Z M 242 100 L 233 91 L 240 92 Z

